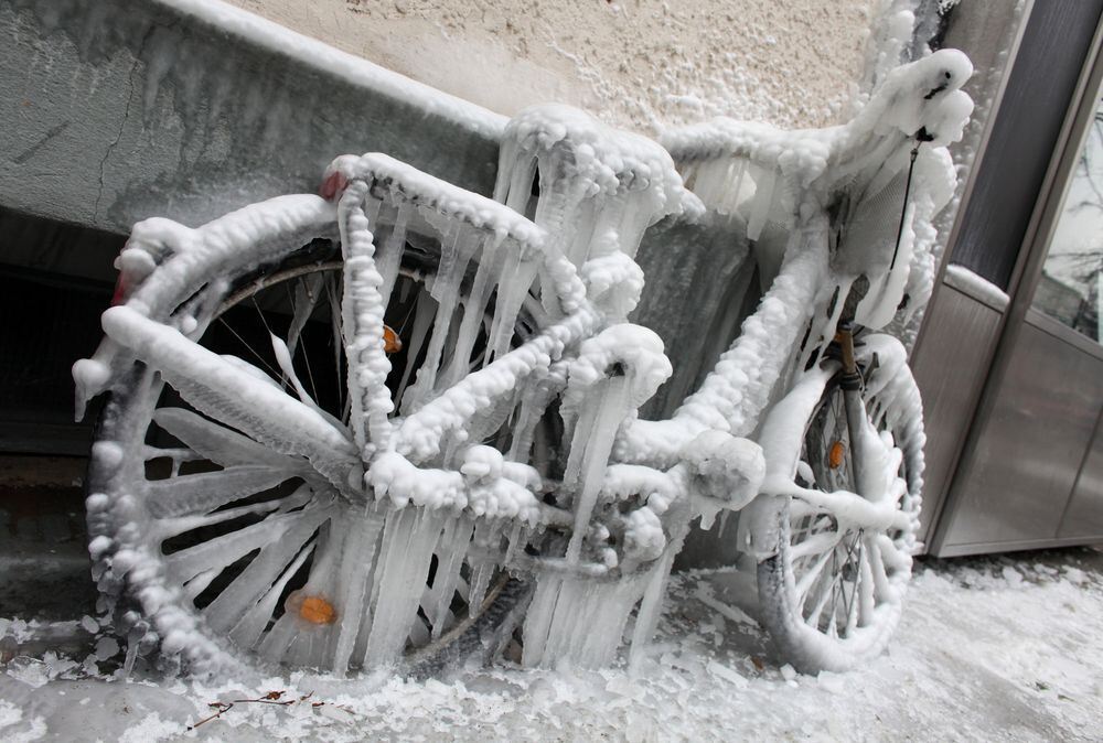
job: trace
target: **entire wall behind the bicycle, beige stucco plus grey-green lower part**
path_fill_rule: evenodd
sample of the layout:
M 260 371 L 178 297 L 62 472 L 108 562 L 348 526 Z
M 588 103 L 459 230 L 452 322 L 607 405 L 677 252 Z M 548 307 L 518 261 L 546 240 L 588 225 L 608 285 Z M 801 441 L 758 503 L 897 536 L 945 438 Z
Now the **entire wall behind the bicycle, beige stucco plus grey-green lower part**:
M 822 125 L 860 77 L 872 2 L 234 0 L 313 41 L 219 2 L 0 0 L 0 206 L 199 224 L 372 150 L 486 193 L 500 115 L 546 100 L 645 133 Z

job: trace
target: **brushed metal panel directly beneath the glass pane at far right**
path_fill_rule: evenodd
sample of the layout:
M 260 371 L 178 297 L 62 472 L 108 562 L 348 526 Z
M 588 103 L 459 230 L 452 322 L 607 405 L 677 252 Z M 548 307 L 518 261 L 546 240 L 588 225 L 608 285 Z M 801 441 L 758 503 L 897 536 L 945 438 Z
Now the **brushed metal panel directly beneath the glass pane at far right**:
M 1103 400 L 1103 364 L 1026 323 L 976 439 L 942 546 L 1053 540 Z M 940 550 L 945 553 L 946 550 Z

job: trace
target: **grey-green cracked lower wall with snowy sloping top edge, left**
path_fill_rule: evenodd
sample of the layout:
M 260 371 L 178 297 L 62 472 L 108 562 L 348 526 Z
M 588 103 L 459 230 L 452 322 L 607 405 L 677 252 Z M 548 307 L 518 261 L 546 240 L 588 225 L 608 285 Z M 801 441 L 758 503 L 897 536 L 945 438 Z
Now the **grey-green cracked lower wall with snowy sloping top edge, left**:
M 491 189 L 500 117 L 210 8 L 0 0 L 0 206 L 118 234 L 199 225 L 313 192 L 365 151 Z

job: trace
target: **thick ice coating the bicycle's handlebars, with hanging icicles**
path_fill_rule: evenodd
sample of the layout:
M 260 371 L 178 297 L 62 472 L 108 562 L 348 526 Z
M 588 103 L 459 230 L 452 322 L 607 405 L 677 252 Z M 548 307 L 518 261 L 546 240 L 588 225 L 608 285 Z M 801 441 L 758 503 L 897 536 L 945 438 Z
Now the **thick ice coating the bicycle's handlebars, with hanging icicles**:
M 909 312 L 930 297 L 931 224 L 956 183 L 945 146 L 961 139 L 972 114 L 973 103 L 960 89 L 972 72 L 964 54 L 941 50 L 888 73 L 845 125 L 786 132 L 717 119 L 668 131 L 663 142 L 694 193 L 718 214 L 739 219 L 768 263 L 780 263 L 785 252 L 772 225 L 799 228 L 803 211 L 845 200 L 843 218 L 852 234 L 843 235 L 833 259 L 836 286 L 845 297 L 859 274 L 868 277 L 871 286 L 856 320 L 882 327 L 906 294 Z M 907 175 L 912 150 L 914 172 Z M 907 177 L 912 183 L 906 206 Z M 899 238 L 885 215 L 893 198 L 904 209 Z M 876 215 L 867 222 L 886 226 L 884 234 L 860 226 L 864 209 Z

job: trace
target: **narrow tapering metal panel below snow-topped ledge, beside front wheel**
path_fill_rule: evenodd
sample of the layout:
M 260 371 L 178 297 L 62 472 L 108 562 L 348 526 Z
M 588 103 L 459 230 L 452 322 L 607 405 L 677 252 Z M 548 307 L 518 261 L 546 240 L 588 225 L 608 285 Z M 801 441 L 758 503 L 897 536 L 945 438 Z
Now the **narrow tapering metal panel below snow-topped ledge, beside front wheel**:
M 962 442 L 973 420 L 996 344 L 1000 313 L 955 288 L 943 286 L 928 310 L 923 353 L 913 372 L 923 395 L 927 475 L 920 539 L 938 515 Z

